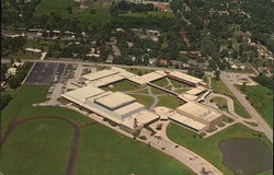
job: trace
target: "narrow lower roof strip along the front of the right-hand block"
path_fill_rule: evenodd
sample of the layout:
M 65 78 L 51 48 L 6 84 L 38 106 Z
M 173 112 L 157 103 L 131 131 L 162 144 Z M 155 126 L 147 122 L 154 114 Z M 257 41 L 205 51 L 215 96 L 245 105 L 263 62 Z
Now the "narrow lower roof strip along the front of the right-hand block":
M 196 129 L 196 130 L 201 130 L 201 129 L 206 127 L 206 125 L 204 125 L 199 121 L 196 121 L 192 118 L 185 117 L 185 116 L 178 114 L 178 113 L 173 113 L 172 115 L 169 116 L 169 118 L 173 119 L 180 124 L 186 125 L 186 126 L 189 126 L 193 129 Z

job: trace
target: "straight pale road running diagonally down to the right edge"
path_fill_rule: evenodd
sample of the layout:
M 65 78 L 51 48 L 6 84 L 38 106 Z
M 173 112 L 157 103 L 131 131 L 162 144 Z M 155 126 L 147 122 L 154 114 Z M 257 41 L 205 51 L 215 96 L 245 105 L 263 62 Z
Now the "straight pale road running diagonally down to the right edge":
M 260 114 L 251 106 L 251 104 L 246 100 L 244 95 L 238 91 L 233 84 L 227 79 L 227 73 L 221 72 L 220 79 L 228 86 L 228 89 L 235 94 L 237 100 L 242 104 L 242 106 L 248 110 L 252 118 L 256 120 L 261 129 L 264 131 L 266 137 L 273 142 L 273 130 L 272 128 L 264 121 L 264 119 L 260 116 Z

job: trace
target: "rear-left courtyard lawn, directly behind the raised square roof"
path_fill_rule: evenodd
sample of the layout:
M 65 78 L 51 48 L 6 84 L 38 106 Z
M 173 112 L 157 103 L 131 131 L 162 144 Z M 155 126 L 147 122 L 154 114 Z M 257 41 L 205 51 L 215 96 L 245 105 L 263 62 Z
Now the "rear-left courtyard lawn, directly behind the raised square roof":
M 137 84 L 134 84 L 127 80 L 123 80 L 116 83 L 113 83 L 112 85 L 114 85 L 113 88 L 110 86 L 105 86 L 102 88 L 105 91 L 135 91 L 135 90 L 140 90 L 142 89 L 142 86 L 139 86 Z

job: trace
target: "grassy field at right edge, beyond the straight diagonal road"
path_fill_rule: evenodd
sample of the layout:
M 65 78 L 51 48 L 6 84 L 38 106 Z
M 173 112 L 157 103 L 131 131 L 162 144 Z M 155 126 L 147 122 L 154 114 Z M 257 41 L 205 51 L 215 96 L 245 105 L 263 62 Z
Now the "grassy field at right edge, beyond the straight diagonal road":
M 247 86 L 243 91 L 237 86 L 242 93 L 247 95 L 248 101 L 255 107 L 265 121 L 273 127 L 273 92 L 272 90 L 262 86 Z

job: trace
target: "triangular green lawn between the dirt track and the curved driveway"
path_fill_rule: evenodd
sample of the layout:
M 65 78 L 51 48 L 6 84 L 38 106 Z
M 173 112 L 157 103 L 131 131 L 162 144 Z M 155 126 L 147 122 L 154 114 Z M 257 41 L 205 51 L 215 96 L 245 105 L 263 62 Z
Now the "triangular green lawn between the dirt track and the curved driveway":
M 78 175 L 192 175 L 178 161 L 101 125 L 82 131 Z

